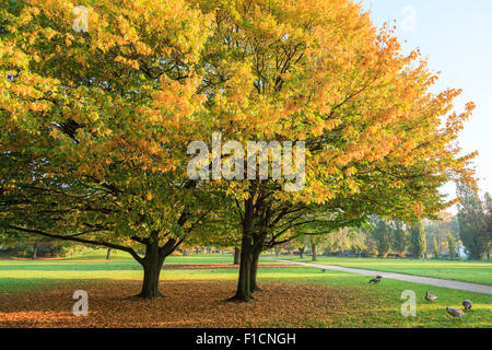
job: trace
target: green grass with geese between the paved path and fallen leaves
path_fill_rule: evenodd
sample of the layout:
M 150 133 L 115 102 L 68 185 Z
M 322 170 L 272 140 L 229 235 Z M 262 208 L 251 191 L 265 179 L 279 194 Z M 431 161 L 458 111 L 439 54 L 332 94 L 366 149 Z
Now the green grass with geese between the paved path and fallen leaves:
M 492 295 L 457 291 L 446 288 L 423 285 L 397 280 L 385 280 L 378 285 L 370 285 L 367 277 L 340 271 L 321 272 L 319 269 L 298 268 L 276 271 L 263 270 L 262 279 L 284 279 L 305 281 L 330 288 L 342 288 L 347 293 L 356 295 L 356 310 L 333 310 L 328 318 L 312 319 L 304 326 L 309 327 L 398 327 L 398 328 L 442 328 L 442 327 L 492 327 Z M 415 293 L 417 316 L 401 315 L 401 293 L 411 290 Z M 425 292 L 437 294 L 435 303 L 424 300 Z M 464 299 L 473 301 L 473 310 L 462 320 L 452 319 L 445 312 L 446 306 L 459 307 Z M 282 325 L 279 325 L 282 326 Z

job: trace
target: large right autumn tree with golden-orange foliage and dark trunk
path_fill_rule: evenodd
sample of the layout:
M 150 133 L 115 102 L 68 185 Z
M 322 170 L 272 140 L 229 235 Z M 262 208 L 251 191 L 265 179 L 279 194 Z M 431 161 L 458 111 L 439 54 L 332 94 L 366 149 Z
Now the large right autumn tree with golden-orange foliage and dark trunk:
M 403 55 L 391 30 L 377 30 L 360 4 L 195 2 L 213 18 L 201 61 L 201 91 L 209 97 L 201 121 L 244 147 L 251 140 L 306 147 L 301 191 L 286 192 L 284 179 L 258 176 L 220 183 L 242 208 L 236 300 L 251 296 L 253 252 L 261 252 L 271 232 L 265 228 L 255 240 L 254 226 L 272 208 L 328 203 L 347 218 L 409 220 L 449 205 L 441 184 L 470 179 L 472 155 L 458 158 L 452 144 L 473 105 L 452 113 L 459 91 L 431 93 L 437 77 L 419 51 Z

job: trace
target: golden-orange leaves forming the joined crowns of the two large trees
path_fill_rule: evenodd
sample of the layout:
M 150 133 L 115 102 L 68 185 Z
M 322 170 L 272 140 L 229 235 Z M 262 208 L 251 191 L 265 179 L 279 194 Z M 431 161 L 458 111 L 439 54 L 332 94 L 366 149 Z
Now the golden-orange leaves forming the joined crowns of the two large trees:
M 353 1 L 102 0 L 89 34 L 73 31 L 72 1 L 28 3 L 0 39 L 1 72 L 15 78 L 0 81 L 0 125 L 60 178 L 180 196 L 187 144 L 214 131 L 306 141 L 306 202 L 367 196 L 425 213 L 440 183 L 471 177 L 450 144 L 473 105 L 442 126 L 459 91 L 430 93 L 437 75 L 420 52 L 403 55 Z

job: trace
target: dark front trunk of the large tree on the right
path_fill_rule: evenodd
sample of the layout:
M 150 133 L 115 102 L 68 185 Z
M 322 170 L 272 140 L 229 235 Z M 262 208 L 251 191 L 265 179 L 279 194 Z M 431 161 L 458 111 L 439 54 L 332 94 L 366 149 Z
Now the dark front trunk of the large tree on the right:
M 251 296 L 251 258 L 253 258 L 253 199 L 246 199 L 244 206 L 243 238 L 241 242 L 239 278 L 236 294 L 231 301 L 248 302 Z

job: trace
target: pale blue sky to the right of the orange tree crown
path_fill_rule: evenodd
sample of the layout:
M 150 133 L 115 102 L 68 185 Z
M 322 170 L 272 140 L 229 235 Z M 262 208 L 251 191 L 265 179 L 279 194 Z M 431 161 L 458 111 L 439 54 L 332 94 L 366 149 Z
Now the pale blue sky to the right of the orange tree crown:
M 464 152 L 478 150 L 479 186 L 492 194 L 492 1 L 491 0 L 361 0 L 376 25 L 397 20 L 397 35 L 407 51 L 420 47 L 430 68 L 442 71 L 437 88 L 460 88 L 455 108 L 473 101 L 477 109 L 459 143 Z M 414 21 L 413 21 L 414 19 Z M 447 185 L 445 192 L 455 192 Z

